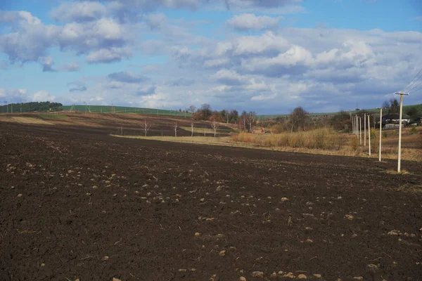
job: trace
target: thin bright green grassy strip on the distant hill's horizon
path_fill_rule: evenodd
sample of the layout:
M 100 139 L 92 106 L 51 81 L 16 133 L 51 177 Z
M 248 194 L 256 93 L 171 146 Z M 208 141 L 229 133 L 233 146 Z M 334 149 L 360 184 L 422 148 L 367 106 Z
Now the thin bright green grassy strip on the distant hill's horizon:
M 63 106 L 63 110 L 71 110 L 71 105 Z M 142 107 L 124 107 L 124 106 L 108 106 L 108 105 L 75 105 L 73 108 L 75 111 L 80 112 L 91 112 L 91 113 L 136 113 L 136 114 L 148 114 L 148 115 L 170 115 L 180 117 L 191 117 L 191 112 L 179 112 L 176 110 L 159 110 L 154 108 L 142 108 Z

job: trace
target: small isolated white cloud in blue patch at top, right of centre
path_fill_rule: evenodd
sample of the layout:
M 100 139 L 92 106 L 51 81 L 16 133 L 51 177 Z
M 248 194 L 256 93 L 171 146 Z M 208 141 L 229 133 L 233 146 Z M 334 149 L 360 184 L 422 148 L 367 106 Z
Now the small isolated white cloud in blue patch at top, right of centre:
M 230 20 L 227 20 L 227 25 L 234 30 L 248 31 L 248 30 L 269 30 L 279 25 L 281 17 L 271 18 L 267 15 L 256 16 L 252 13 L 243 15 L 235 15 Z

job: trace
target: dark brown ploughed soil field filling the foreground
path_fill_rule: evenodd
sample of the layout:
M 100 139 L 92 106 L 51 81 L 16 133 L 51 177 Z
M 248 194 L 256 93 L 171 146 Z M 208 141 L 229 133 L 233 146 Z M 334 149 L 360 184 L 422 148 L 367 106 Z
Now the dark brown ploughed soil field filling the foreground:
M 402 167 L 0 122 L 0 280 L 421 280 Z

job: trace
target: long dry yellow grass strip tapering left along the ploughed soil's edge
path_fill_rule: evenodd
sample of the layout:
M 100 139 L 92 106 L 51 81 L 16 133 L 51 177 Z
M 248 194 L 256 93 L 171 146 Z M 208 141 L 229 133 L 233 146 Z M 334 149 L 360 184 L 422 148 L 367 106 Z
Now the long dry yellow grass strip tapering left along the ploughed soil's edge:
M 286 136 L 288 135 L 288 136 Z M 240 133 L 231 137 L 174 137 L 174 136 L 117 136 L 119 138 L 140 138 L 153 141 L 175 143 L 196 143 L 200 145 L 223 145 L 238 148 L 254 148 L 284 152 L 301 152 L 319 155 L 339 155 L 354 157 L 371 157 L 378 159 L 378 141 L 371 143 L 372 154 L 368 147 L 359 144 L 356 136 L 337 133 L 329 129 L 301 133 L 283 133 L 277 135 Z M 321 139 L 321 138 L 324 138 Z M 378 138 L 377 138 L 378 140 Z M 397 143 L 396 143 L 397 145 Z M 397 159 L 397 147 L 383 146 L 383 159 Z M 402 159 L 422 161 L 422 149 L 402 148 Z

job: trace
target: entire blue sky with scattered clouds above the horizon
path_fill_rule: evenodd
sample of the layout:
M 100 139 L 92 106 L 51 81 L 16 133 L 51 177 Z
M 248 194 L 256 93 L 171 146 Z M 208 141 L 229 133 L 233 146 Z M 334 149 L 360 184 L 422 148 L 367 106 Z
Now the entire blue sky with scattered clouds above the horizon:
M 417 0 L 0 3 L 0 100 L 311 112 L 422 103 Z

